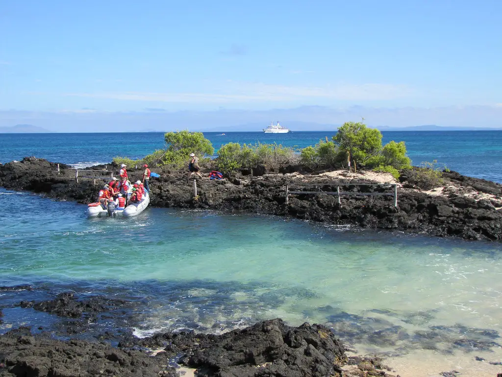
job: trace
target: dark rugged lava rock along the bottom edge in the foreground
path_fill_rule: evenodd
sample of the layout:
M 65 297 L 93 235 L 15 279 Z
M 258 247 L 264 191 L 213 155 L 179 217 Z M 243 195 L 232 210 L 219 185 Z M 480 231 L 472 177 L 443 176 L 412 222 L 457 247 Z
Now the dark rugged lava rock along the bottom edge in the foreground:
M 0 336 L 0 376 L 174 375 L 170 358 L 199 376 L 341 376 L 345 350 L 322 325 L 290 327 L 280 319 L 222 335 L 161 334 L 136 343 L 168 343 L 165 352 L 115 348 L 106 343 L 60 341 L 28 328 Z M 384 374 L 385 375 L 385 374 Z

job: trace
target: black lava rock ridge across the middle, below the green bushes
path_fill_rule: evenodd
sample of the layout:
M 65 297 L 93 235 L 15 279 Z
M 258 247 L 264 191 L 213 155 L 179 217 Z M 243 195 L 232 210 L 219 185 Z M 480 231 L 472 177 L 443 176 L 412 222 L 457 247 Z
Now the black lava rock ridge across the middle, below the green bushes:
M 6 163 L 0 166 L 0 186 L 83 204 L 96 200 L 99 185 L 94 186 L 88 179 L 75 183 L 73 168 L 59 164 L 58 171 L 57 166 L 36 157 Z M 198 196 L 194 198 L 186 172 L 167 166 L 154 170 L 161 177 L 150 183 L 153 207 L 272 214 L 335 225 L 502 241 L 502 186 L 453 171 L 443 173 L 443 186 L 430 191 L 420 190 L 403 174 L 395 208 L 392 197 L 382 196 L 346 196 L 338 204 L 335 195 L 291 195 L 286 203 L 286 184 L 297 191 L 336 192 L 340 186 L 344 192 L 389 192 L 383 186 L 352 185 L 375 183 L 364 172 L 301 174 L 298 166 L 262 166 L 243 169 L 223 180 L 198 179 Z M 139 169 L 130 171 L 133 180 L 141 179 L 141 174 Z

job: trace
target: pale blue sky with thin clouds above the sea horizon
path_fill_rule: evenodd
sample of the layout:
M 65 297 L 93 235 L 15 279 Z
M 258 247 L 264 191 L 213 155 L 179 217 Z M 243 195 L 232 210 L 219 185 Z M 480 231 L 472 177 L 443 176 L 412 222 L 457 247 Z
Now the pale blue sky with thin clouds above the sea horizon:
M 0 126 L 502 127 L 501 14 L 499 0 L 3 0 Z

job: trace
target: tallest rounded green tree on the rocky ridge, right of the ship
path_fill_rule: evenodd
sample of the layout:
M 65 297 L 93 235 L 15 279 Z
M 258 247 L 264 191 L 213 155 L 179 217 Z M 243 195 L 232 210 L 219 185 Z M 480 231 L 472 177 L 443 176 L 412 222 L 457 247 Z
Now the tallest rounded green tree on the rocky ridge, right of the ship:
M 338 128 L 333 141 L 342 151 L 348 152 L 352 160 L 361 164 L 382 150 L 382 133 L 360 122 L 345 122 Z

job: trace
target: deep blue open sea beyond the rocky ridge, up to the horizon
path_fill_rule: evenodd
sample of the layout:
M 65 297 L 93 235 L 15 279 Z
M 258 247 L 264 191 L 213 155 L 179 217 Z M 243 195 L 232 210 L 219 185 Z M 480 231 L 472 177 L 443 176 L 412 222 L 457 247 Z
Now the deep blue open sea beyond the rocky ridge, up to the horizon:
M 228 142 L 274 143 L 294 148 L 313 145 L 332 132 L 228 132 L 204 135 L 215 149 Z M 164 147 L 163 133 L 105 134 L 0 134 L 0 162 L 35 155 L 54 162 L 88 166 L 108 163 L 117 155 L 141 158 Z M 384 131 L 384 143 L 405 141 L 415 165 L 438 160 L 462 174 L 502 182 L 502 131 Z

